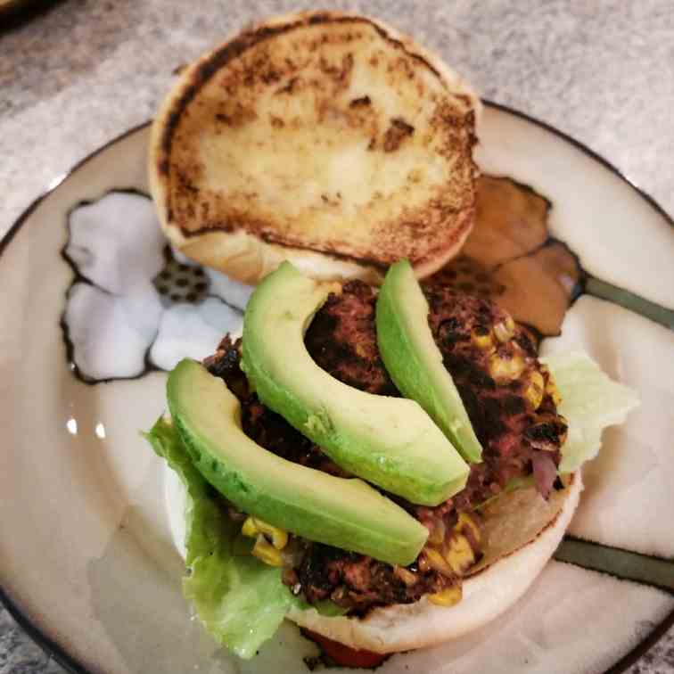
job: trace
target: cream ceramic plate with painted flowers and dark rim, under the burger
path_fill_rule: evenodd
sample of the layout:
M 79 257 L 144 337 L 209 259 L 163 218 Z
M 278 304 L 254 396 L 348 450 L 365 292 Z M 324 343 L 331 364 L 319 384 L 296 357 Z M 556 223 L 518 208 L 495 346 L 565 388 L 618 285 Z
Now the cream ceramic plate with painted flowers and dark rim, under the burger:
M 74 671 L 306 672 L 316 645 L 291 625 L 237 662 L 181 595 L 166 473 L 139 430 L 164 408 L 166 369 L 236 330 L 251 289 L 166 248 L 147 137 L 82 162 L 2 244 L 4 599 Z M 604 433 L 569 535 L 522 600 L 380 671 L 621 669 L 674 622 L 674 231 L 614 169 L 514 111 L 487 105 L 478 160 L 481 220 L 442 277 L 511 308 L 544 351 L 586 349 L 642 405 Z

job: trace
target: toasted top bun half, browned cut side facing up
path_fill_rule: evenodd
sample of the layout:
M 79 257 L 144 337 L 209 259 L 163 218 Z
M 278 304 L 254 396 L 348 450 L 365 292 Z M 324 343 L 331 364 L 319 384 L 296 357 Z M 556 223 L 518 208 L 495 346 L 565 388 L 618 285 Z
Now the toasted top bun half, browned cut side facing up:
M 416 275 L 473 225 L 480 102 L 439 57 L 363 16 L 265 21 L 188 67 L 152 125 L 160 224 L 244 283 L 290 259 L 325 279 Z

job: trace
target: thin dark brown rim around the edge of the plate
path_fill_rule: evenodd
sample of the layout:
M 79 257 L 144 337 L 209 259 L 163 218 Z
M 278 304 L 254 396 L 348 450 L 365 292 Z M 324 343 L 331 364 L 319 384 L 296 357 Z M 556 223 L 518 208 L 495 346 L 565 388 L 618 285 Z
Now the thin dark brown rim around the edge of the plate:
M 604 168 L 608 169 L 613 175 L 620 178 L 621 182 L 627 184 L 634 192 L 636 192 L 642 199 L 649 204 L 649 206 L 660 215 L 664 220 L 669 223 L 670 227 L 674 228 L 674 218 L 662 208 L 662 206 L 655 201 L 651 194 L 645 192 L 645 190 L 637 185 L 633 180 L 627 177 L 620 168 L 617 168 L 611 161 L 604 158 L 603 155 L 599 154 L 592 150 L 588 145 L 577 140 L 573 136 L 570 136 L 566 132 L 553 127 L 551 124 L 548 124 L 542 119 L 531 116 L 528 112 L 522 112 L 513 108 L 504 103 L 497 103 L 487 98 L 482 98 L 481 102 L 487 108 L 492 108 L 494 110 L 505 112 L 515 118 L 523 119 L 526 122 L 533 124 L 534 126 L 543 128 L 547 132 L 551 133 L 553 136 L 557 136 L 562 139 L 564 142 L 571 144 L 580 152 L 584 153 L 593 160 L 596 160 Z M 25 210 L 21 212 L 21 215 L 12 223 L 9 229 L 6 231 L 4 236 L 0 239 L 0 256 L 4 253 L 5 249 L 12 242 L 14 236 L 19 232 L 21 226 L 28 220 L 30 215 L 37 210 L 37 207 L 45 201 L 45 199 L 52 194 L 55 190 L 59 189 L 61 185 L 79 168 L 82 168 L 89 160 L 94 159 L 97 155 L 101 154 L 108 150 L 112 145 L 119 143 L 128 136 L 136 134 L 138 131 L 141 131 L 145 127 L 149 127 L 152 124 L 152 119 L 147 119 L 139 124 L 136 124 L 133 127 L 128 128 L 119 136 L 111 138 L 105 144 L 96 148 L 93 152 L 90 152 L 81 160 L 78 160 L 70 169 L 62 173 L 60 176 L 53 179 L 53 182 L 49 183 L 48 187 L 40 193 L 33 201 L 29 203 Z M 17 601 L 12 599 L 7 592 L 4 590 L 2 583 L 0 582 L 0 606 L 12 616 L 12 619 L 23 629 L 26 634 L 50 657 L 53 658 L 55 662 L 58 662 L 65 670 L 71 672 L 71 674 L 94 674 L 93 670 L 88 670 L 84 665 L 78 662 L 68 651 L 59 645 L 51 637 L 46 634 L 44 629 L 41 629 L 37 626 L 28 615 L 21 609 L 21 606 Z M 628 670 L 628 668 L 637 662 L 637 660 L 649 651 L 653 645 L 657 644 L 664 634 L 674 625 L 674 611 L 670 612 L 660 623 L 658 623 L 648 635 L 642 639 L 634 648 L 632 648 L 628 653 L 625 653 L 618 662 L 612 664 L 612 666 L 604 671 L 604 674 L 621 674 Z

